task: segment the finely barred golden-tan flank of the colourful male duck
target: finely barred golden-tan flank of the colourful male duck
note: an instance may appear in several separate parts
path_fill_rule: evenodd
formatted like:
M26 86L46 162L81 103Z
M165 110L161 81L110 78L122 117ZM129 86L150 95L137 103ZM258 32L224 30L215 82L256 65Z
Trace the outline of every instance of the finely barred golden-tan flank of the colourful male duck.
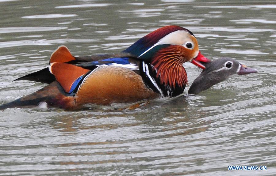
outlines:
M84 79L75 94L74 103L76 106L87 103L109 105L154 99L158 96L132 70L121 66L99 66Z

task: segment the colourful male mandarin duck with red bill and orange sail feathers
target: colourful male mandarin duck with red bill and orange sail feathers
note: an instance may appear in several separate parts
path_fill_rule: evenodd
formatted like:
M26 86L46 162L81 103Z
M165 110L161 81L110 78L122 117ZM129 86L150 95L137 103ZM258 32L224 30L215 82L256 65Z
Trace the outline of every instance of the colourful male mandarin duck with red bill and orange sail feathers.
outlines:
M0 109L46 102L75 110L86 104L174 97L182 94L187 84L185 62L204 69L201 62L210 60L200 53L192 32L174 25L149 33L117 55L74 57L67 47L60 46L52 53L49 68L17 79L49 85Z

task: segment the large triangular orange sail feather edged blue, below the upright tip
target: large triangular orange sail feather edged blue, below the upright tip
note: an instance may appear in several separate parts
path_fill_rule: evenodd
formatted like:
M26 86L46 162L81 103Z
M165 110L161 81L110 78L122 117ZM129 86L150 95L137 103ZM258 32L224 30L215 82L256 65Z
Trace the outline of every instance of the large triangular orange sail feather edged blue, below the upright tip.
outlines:
M56 81L64 91L69 93L74 81L90 70L71 64L53 62L50 64L49 71L56 77Z

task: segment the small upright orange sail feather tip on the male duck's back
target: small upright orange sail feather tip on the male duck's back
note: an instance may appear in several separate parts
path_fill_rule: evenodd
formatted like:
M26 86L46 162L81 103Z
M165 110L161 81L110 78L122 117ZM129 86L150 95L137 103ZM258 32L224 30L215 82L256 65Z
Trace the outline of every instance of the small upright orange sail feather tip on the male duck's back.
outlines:
M70 53L67 47L59 46L56 51L54 51L50 57L50 64L53 62L69 62L75 60L74 56Z

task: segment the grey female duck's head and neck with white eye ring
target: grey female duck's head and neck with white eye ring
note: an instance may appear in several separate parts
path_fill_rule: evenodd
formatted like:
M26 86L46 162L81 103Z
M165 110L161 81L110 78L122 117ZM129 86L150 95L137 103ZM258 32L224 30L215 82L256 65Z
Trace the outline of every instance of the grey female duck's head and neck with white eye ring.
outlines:
M232 58L218 58L205 63L206 68L194 80L188 91L189 94L197 95L215 84L225 81L234 75L257 73L256 69L248 68Z

